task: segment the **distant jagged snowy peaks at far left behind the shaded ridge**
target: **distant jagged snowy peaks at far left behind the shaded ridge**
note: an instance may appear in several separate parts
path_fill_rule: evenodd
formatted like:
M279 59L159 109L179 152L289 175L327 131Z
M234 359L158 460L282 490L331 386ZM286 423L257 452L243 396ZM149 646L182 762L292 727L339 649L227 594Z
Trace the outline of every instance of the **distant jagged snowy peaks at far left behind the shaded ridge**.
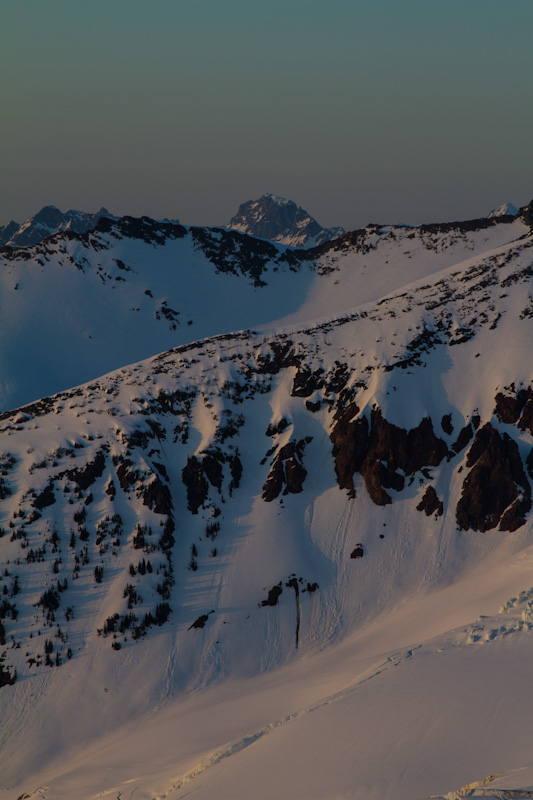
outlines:
M85 233L92 230L101 217L117 219L103 207L95 214L90 214L74 209L63 213L55 206L45 206L22 225L12 220L7 225L0 227L0 245L30 247L60 231Z

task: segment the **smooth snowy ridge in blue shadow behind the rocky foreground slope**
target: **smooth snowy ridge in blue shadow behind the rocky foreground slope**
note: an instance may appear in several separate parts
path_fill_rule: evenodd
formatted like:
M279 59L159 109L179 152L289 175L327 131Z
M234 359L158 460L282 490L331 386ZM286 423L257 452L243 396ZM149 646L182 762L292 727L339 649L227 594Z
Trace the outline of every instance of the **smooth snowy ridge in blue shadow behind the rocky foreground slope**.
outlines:
M528 230L507 217L369 226L294 251L234 231L125 217L5 248L0 409L195 339L338 315Z

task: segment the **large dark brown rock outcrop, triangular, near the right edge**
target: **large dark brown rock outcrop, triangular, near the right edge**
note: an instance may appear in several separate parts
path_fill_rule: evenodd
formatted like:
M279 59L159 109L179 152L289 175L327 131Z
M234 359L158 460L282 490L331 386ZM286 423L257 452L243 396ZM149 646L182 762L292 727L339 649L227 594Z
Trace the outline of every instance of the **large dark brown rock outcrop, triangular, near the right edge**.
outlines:
M463 530L513 531L525 523L531 487L516 443L490 423L480 428L467 456L472 467L463 483L456 518Z

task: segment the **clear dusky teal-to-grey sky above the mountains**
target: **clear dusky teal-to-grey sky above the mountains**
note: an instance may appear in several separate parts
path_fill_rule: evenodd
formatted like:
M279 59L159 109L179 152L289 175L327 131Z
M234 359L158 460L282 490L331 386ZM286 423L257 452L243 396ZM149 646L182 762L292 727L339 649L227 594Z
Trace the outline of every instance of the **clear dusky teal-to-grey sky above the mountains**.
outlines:
M533 197L531 0L18 0L0 11L0 224L42 206L322 225Z

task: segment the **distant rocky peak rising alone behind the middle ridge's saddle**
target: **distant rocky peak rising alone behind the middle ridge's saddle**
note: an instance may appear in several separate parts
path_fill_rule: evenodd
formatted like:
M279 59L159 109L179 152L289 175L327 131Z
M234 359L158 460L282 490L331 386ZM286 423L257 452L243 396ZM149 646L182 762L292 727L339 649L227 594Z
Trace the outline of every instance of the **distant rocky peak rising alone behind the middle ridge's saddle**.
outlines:
M290 247L315 247L346 233L344 228L323 228L301 206L273 194L242 203L227 228Z

